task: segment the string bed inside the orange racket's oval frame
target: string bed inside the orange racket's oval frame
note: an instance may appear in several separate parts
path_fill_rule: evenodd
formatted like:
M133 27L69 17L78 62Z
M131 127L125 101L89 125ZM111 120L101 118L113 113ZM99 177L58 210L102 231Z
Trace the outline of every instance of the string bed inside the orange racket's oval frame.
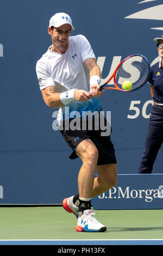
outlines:
M131 90L134 90L145 83L148 74L149 66L146 59L142 56L131 56L124 60L117 69L115 82L123 90L122 83L130 81L132 83Z

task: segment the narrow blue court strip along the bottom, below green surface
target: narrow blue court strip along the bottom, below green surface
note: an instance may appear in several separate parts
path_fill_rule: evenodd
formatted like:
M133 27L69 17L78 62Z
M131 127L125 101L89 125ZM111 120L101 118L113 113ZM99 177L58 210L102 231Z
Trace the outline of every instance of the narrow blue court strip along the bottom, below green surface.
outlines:
M0 245L163 245L163 239L117 240L0 240Z

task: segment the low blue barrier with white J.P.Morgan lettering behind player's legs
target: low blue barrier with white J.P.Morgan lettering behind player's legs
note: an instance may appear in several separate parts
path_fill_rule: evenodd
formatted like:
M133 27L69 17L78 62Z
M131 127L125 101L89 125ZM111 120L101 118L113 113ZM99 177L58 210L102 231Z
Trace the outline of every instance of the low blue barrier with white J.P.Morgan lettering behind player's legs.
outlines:
M163 209L163 174L119 174L109 191L93 198L93 209Z

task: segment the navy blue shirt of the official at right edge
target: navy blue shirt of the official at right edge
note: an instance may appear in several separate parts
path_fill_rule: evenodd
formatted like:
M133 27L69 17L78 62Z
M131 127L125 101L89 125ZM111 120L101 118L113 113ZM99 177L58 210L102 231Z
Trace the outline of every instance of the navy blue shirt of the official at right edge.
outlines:
M151 66L151 74L148 83L154 86L153 100L163 102L163 68L161 66L161 59Z

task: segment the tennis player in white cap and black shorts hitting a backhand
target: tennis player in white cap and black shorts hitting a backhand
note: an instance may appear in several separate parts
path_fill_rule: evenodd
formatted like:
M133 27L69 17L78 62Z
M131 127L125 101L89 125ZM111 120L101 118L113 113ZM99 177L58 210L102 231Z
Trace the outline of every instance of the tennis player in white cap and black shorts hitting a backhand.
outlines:
M102 110L98 97L103 94L95 54L85 36L70 36L72 30L74 27L68 14L52 16L48 27L52 45L38 60L36 73L46 104L60 108L57 120L59 127L64 127L60 129L62 136L73 150L70 159L80 157L83 162L78 175L79 194L65 198L62 205L78 217L77 231L102 232L106 227L96 220L91 199L116 185L115 150L110 135L102 136L100 127L95 129L95 120ZM65 107L69 109L68 114ZM83 118L86 113L85 120L87 113L97 113L93 118L94 128L67 129L65 124L71 120L72 111L78 113L78 118ZM94 178L96 169L98 176Z

